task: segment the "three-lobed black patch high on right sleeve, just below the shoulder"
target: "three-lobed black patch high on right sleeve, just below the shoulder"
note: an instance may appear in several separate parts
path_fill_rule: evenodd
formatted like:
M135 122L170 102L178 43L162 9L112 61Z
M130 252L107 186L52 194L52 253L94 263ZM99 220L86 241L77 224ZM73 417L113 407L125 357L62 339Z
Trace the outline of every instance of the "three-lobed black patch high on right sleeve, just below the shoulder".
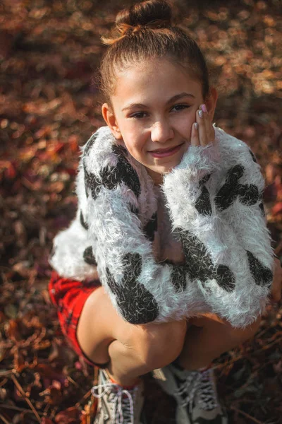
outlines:
M238 198L248 206L259 200L259 189L254 184L240 184L238 180L243 176L244 167L235 165L228 170L226 182L216 194L214 201L219 211L227 209Z

